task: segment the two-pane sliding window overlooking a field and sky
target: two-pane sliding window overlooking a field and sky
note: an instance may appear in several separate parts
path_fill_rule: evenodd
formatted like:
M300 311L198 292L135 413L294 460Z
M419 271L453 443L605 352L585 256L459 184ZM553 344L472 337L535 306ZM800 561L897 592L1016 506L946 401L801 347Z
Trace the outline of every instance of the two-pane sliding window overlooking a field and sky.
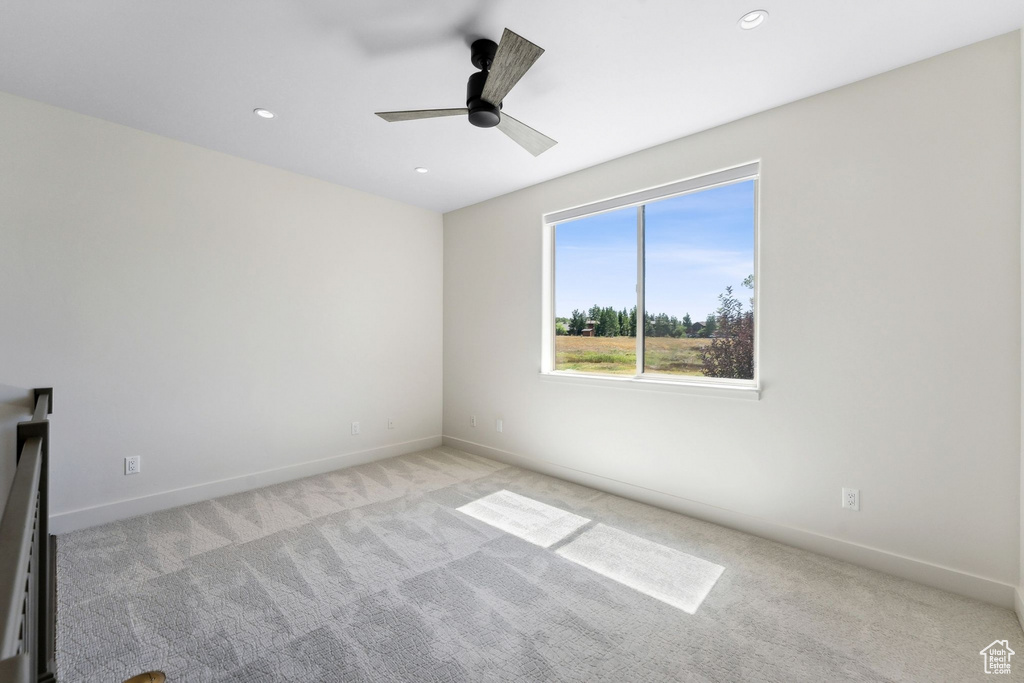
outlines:
M546 216L546 370L754 386L757 183L750 164Z

